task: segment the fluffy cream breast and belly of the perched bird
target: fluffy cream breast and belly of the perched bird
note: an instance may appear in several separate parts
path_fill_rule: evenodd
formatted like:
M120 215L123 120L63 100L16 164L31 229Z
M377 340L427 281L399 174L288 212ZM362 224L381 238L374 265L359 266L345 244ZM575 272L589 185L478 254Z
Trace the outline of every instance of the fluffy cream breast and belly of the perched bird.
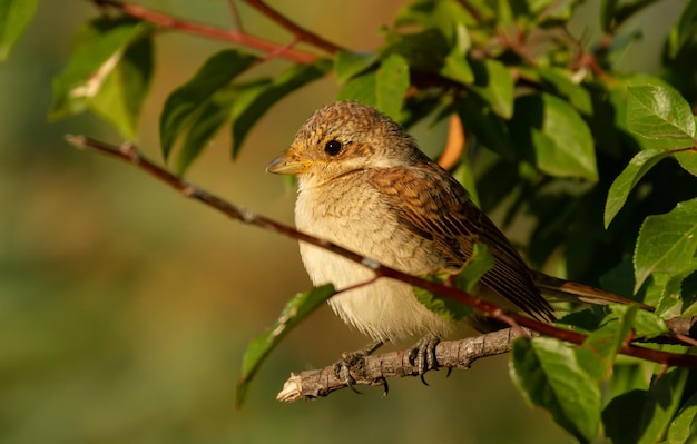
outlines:
M330 240L410 274L430 272L426 239L405 231L397 218L370 186L350 189L301 189L295 206L301 231ZM359 287L330 299L340 317L362 333L382 341L443 336L451 325L421 305L410 285L393 279L371 282L373 272L340 255L300 244L305 269L313 284L332 283L337 289ZM360 285L370 283L366 285Z

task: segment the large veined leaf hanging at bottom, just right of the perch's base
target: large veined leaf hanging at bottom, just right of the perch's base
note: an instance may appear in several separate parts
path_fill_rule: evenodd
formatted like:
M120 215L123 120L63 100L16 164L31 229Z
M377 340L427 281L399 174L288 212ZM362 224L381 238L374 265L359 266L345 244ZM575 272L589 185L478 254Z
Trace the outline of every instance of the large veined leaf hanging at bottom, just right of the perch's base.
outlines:
M511 377L526 399L549 411L582 443L598 434L601 394L568 343L520 337L511 346Z

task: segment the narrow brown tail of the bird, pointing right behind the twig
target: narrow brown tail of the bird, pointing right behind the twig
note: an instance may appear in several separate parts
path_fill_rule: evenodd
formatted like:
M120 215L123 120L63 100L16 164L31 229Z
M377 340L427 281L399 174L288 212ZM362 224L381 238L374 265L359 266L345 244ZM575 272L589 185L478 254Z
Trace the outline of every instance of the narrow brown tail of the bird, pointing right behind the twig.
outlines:
M615 293L606 292L583 284L572 283L549 276L541 272L531 270L532 280L538 286L542 295L559 302L582 302L586 304L608 305L627 304L654 312L655 308L641 302L629 299Z

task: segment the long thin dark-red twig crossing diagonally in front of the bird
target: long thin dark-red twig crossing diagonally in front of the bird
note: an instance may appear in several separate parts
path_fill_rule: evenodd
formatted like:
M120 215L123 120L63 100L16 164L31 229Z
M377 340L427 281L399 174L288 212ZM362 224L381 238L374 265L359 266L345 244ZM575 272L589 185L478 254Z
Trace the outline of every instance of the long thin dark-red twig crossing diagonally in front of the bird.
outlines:
M336 244L298 231L287 225L283 225L267 217L257 215L252 210L223 200L219 197L214 196L200 188L195 187L184 179L176 177L171 172L144 158L138 152L136 147L130 142L126 142L120 147L117 147L99 140L87 138L85 136L67 136L66 138L71 145L78 148L89 148L98 152L129 161L137 168L144 170L153 177L169 185L174 189L180 191L184 196L189 197L194 200L198 200L214 209L217 209L218 211L227 215L233 219L239 220L247 225L264 228L269 231L275 231L311 245L315 245L328 251L341 255L344 258L352 260L356 264L361 264L373 270L375 278L389 277L419 288L423 288L433 294L450 297L451 299L458 300L482 313L485 313L494 319L498 319L511 326L513 329L521 334L523 332L521 327L527 327L546 336L556 337L558 339L566 341L572 344L581 344L583 343L583 341L586 341L587 335L585 334L541 323L516 312L502 309L493 304L469 295L455 287L431 282L418 276L412 276L392 267L387 267L377 263L374 259L343 248ZM697 356L694 355L661 352L657 349L640 347L631 343L624 344L620 348L620 353L624 355L635 356L645 361L651 361L658 364L662 364L664 366L697 368Z

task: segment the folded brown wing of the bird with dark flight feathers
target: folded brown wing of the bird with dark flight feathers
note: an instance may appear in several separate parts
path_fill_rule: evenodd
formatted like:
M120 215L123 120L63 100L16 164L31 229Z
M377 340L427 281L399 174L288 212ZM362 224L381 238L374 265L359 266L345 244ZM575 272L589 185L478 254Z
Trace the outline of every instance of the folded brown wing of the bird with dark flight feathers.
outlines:
M494 265L480 284L529 315L553 322L551 306L540 295L516 248L445 170L431 162L380 168L373 170L370 180L402 226L433 241L433 254L443 258L443 267L460 268L472 254L473 244L484 244Z

